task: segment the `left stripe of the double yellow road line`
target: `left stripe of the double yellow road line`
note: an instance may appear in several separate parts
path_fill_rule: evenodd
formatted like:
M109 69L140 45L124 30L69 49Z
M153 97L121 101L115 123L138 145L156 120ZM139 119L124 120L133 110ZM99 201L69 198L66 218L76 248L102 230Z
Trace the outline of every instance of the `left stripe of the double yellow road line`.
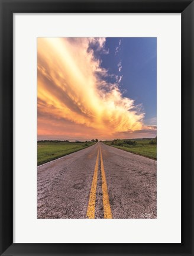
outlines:
M99 148L98 148L96 165L95 165L94 174L93 174L92 187L90 190L89 202L88 202L87 216L89 219L95 218L96 187L97 187L97 178L98 178L98 161L99 161Z

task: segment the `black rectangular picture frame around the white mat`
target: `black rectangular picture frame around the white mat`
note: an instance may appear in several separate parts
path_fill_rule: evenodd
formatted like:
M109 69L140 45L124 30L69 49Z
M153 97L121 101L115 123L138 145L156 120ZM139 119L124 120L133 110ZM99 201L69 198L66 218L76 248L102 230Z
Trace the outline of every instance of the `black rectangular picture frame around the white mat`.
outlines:
M1 0L1 255L194 255L192 0ZM181 244L13 244L13 14L62 12L181 13L182 242ZM173 32L172 32L173 33ZM179 139L179 138L178 138ZM117 231L115 231L117 232ZM168 231L166 231L168 232Z

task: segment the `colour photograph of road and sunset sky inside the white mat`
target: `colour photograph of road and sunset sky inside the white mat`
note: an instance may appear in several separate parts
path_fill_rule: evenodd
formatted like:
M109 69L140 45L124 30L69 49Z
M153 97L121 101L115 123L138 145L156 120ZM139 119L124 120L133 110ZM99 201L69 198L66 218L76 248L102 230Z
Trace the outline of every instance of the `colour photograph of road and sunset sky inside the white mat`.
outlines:
M156 219L156 60L156 37L37 38L38 219Z

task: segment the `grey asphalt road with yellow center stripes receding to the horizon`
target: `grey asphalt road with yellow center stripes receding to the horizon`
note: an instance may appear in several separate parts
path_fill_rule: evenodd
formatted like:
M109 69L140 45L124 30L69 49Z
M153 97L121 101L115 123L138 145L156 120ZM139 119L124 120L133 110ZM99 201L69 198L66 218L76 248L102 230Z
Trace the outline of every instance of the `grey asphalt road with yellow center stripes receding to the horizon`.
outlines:
M157 217L157 162L98 142L37 169L37 217Z

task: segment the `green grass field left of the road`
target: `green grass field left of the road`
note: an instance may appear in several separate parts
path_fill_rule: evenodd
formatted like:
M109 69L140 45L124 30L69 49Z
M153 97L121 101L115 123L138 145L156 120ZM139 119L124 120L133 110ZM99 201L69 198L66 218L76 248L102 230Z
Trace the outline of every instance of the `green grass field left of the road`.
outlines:
M95 142L38 142L38 165L79 151Z

